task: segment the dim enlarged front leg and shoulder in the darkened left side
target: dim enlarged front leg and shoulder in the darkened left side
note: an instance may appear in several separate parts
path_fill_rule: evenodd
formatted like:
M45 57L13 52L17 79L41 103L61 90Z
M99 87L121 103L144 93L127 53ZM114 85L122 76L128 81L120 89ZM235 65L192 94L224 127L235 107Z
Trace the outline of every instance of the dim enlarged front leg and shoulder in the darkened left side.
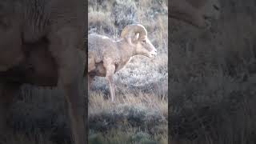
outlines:
M86 52L79 50L82 38L82 33L72 28L49 35L49 50L58 65L58 86L64 90L75 144L85 144L87 139L86 97L82 94Z

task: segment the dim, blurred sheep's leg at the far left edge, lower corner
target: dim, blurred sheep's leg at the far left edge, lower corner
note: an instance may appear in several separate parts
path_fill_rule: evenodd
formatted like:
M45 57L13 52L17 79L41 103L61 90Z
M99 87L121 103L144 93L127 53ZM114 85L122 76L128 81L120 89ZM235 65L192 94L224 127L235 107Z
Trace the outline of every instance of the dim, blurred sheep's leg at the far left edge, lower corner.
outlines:
M6 119L10 116L10 106L18 90L19 85L6 82L0 84L0 135L6 134Z

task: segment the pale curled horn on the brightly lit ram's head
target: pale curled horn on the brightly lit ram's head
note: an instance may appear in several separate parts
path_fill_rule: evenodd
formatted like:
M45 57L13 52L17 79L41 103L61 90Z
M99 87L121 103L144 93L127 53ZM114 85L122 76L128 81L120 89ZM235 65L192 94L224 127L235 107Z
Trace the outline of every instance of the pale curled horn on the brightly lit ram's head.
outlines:
M140 24L132 24L126 26L121 33L121 38L130 38L135 36L136 34L139 34L138 39L146 38L147 31L144 26Z

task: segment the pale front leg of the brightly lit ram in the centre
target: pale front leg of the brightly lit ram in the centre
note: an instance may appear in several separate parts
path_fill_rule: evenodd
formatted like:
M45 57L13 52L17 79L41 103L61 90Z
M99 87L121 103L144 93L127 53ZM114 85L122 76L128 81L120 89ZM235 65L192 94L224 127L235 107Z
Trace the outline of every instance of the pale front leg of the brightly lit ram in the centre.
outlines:
M110 85L110 96L111 96L111 101L114 102L115 94L114 94L114 65L106 65L106 80L109 82Z

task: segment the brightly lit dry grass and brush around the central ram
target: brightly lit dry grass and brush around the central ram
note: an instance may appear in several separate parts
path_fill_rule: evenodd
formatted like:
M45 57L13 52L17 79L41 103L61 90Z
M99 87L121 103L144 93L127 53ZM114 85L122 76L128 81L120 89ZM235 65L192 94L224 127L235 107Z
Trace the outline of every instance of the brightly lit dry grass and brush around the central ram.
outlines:
M94 79L89 91L90 143L167 143L168 23L165 3L156 0L89 3L89 33L118 38L124 26L141 23L159 51L154 59L135 56L114 75L114 103L110 102L105 78Z

